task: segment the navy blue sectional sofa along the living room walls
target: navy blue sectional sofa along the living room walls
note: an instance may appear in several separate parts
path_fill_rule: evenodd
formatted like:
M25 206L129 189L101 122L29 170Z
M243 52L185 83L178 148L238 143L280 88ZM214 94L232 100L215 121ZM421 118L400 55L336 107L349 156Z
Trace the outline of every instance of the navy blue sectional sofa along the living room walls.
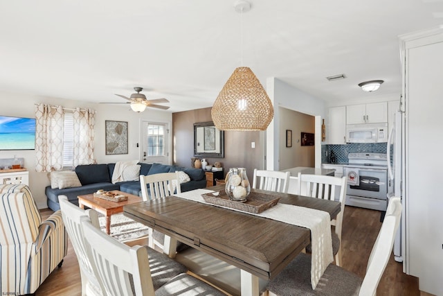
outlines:
M181 183L181 191L206 187L205 172L201 168L184 168L182 166L170 166L165 164L143 164L140 168L140 175L153 175L158 173L174 173L183 171L190 177L190 182ZM90 194L103 189L105 191L120 190L129 194L141 196L141 185L139 181L111 182L112 173L116 164L87 164L75 168L75 173L82 186L64 189L52 189L46 186L45 193L48 198L47 204L50 209L57 211L60 209L58 195L66 195L68 200L78 205L78 195Z

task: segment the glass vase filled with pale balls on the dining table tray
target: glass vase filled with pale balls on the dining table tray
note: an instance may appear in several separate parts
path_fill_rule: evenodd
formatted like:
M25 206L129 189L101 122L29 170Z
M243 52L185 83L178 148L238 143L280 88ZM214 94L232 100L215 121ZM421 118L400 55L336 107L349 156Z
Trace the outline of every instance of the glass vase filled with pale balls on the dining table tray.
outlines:
M226 177L225 191L230 200L245 202L251 185L249 184L246 168L230 168Z

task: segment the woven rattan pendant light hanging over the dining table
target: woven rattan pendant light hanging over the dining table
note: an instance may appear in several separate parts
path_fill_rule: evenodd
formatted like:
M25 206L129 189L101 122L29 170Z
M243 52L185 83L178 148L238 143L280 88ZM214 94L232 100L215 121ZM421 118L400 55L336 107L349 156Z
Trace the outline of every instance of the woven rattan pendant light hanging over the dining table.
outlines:
M251 9L251 3L239 0L234 3L234 8L241 13L243 20L243 12ZM243 24L240 31L243 32ZM241 60L243 63L243 58ZM273 115L268 94L248 67L234 70L211 110L214 124L219 130L266 130Z

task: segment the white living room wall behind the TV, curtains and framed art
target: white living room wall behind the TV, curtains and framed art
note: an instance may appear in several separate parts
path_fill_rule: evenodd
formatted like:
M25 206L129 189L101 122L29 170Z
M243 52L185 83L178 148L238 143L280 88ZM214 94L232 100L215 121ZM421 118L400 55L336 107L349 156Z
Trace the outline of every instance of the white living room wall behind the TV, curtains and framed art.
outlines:
M111 96L111 94L110 94ZM141 119L165 122L171 125L172 113L149 108L138 114L129 110L129 105L109 105L86 103L83 101L70 101L62 98L48 98L26 94L11 94L0 92L0 115L35 117L35 104L46 103L51 105L62 105L63 107L91 108L96 110L95 125L95 150L94 155L99 164L117 162L118 160L140 159L140 148L136 143L140 142L140 122ZM127 155L106 155L105 152L105 121L127 121L128 122L128 154ZM172 148L172 145L170 145ZM35 172L35 150L0 150L0 158L12 158L14 155L24 158L24 166L29 171L29 186L33 192L33 197L39 209L46 208L46 195L44 188L49 185L47 173ZM172 155L172 150L170 151Z

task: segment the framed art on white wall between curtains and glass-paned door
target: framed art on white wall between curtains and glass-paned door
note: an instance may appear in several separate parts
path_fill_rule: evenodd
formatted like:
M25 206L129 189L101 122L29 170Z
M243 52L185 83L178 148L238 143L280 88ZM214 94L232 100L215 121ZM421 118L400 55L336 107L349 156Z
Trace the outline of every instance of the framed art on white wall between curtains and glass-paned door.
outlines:
M106 154L128 154L127 121L105 121Z

